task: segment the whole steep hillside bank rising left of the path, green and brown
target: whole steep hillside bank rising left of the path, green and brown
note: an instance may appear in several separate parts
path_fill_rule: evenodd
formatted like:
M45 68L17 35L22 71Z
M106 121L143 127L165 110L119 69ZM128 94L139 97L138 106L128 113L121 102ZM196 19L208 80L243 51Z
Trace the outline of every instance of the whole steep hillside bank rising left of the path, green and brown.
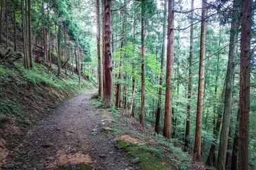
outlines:
M6 51L0 52L1 162L7 156L7 150L18 146L20 138L30 127L80 91L75 73L67 71L67 75L63 73L57 77L55 65L53 71L48 71L44 65L37 63L34 63L33 69L24 69L19 53L10 51L7 57ZM94 83L82 79L82 91L94 88Z

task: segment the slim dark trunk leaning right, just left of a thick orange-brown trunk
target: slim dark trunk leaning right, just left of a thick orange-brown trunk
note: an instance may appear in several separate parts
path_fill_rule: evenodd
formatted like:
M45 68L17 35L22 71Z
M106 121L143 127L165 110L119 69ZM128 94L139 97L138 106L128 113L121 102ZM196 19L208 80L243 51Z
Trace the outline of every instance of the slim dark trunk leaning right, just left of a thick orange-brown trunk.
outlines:
M162 54L161 54L161 73L160 73L160 82L158 89L158 105L156 110L156 126L155 132L160 133L160 118L161 118L161 108L162 108L162 78L164 75L164 53L165 53L165 38L166 38L166 16L167 16L167 0L164 0L164 19L163 19L163 28L162 28Z

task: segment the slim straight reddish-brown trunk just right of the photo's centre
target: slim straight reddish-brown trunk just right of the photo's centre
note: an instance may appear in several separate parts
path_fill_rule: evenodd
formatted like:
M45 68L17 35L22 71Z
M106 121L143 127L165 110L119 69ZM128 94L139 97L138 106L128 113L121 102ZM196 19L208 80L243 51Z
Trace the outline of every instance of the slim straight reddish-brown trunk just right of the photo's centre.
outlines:
M145 124L145 0L141 0L141 110L139 123Z

